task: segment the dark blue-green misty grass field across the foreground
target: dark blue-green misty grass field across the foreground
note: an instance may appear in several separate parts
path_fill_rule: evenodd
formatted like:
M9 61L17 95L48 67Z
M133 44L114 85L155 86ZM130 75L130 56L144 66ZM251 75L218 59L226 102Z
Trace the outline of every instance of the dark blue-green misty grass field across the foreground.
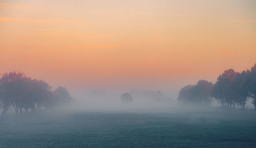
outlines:
M256 112L35 113L0 131L1 147L255 147Z

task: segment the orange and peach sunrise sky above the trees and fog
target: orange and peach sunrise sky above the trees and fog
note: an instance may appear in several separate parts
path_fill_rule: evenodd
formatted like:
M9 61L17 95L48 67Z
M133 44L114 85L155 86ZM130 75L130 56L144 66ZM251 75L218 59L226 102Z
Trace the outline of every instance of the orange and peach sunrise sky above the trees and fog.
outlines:
M255 55L253 0L0 0L0 73L71 91L179 90Z

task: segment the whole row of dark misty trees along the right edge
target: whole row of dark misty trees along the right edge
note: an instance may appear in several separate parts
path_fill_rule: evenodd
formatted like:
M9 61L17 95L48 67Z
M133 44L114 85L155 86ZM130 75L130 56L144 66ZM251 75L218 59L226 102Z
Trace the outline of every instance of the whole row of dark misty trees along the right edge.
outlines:
M239 105L244 109L249 98L256 110L256 64L241 73L225 70L216 83L199 80L196 85L187 85L181 88L178 101L209 105L217 100L222 107L235 108Z

